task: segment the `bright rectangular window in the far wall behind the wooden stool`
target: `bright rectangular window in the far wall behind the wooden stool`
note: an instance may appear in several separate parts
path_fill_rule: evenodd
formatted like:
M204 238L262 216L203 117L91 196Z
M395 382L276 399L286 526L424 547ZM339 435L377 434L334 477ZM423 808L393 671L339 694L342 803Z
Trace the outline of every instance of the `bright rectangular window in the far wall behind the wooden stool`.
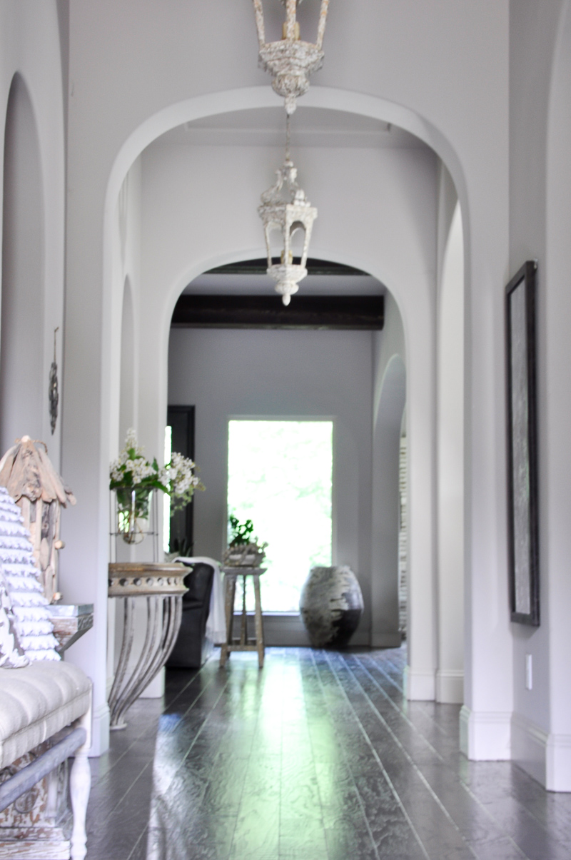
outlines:
M267 541L265 612L297 612L310 568L331 564L332 463L333 421L229 422L228 512Z

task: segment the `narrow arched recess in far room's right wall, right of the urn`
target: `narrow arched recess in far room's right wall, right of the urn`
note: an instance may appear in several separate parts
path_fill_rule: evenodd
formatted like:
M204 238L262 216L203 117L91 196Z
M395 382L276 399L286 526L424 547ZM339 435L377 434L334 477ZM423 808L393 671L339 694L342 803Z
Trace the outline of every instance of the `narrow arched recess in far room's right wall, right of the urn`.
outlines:
M397 312L396 304L394 299L389 303L385 297L385 319L391 312ZM389 352L392 346L389 345ZM386 345L382 344L381 349L385 351ZM383 358L379 356L377 366L384 364ZM379 395L373 404L371 645L376 648L395 647L401 643L398 629L399 451L406 395L405 363L398 353L393 353L384 366Z

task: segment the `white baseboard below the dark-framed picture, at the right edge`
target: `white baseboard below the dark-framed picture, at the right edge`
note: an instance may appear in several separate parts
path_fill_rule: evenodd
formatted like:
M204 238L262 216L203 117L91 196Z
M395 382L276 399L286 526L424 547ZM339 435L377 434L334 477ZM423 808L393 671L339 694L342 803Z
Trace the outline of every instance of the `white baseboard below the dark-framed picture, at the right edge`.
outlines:
M527 717L513 714L512 758L548 791L571 791L570 734L549 734Z

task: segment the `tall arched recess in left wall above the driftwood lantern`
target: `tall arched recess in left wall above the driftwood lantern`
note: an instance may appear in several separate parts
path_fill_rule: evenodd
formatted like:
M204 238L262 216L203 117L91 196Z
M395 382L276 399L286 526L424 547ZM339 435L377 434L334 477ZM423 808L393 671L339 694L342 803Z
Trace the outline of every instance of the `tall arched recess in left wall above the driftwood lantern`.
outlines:
M4 132L0 449L45 436L44 222L40 143L28 89L15 74Z

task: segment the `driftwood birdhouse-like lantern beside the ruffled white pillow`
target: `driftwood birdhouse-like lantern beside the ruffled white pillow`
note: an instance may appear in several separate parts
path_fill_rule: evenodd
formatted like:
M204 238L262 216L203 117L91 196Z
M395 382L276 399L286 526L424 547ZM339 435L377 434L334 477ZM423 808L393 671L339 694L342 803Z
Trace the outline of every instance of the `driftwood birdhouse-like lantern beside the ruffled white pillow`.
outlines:
M68 502L75 505L75 496L53 468L46 444L29 436L18 439L0 460L0 486L21 508L40 583L46 600L52 603L58 593L58 550L65 545L59 537L61 508Z

